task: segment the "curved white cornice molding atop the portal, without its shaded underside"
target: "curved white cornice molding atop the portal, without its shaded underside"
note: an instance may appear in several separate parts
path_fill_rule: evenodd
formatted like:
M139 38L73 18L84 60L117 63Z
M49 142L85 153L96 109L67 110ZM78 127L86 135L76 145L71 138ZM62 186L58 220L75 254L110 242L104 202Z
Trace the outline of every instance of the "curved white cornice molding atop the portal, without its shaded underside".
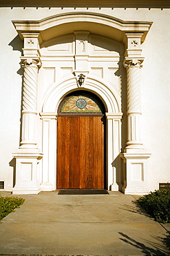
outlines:
M142 41L144 40L145 34L149 31L149 28L152 24L152 22L146 21L123 21L115 17L94 12L68 12L41 19L39 21L12 21L12 23L14 24L14 27L19 33L21 39L23 39L23 32L25 33L34 31L34 33L38 33L49 28L54 28L54 26L58 26L60 24L69 24L73 22L73 20L76 22L93 22L96 24L108 26L111 29L116 28L125 33L142 33Z

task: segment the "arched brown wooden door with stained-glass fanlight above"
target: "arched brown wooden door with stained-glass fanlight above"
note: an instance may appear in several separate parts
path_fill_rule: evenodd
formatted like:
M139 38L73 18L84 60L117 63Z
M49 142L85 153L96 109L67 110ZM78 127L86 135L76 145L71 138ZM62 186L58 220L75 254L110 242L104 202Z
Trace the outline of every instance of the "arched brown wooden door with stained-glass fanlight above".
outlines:
M59 106L56 188L105 188L105 107L96 95L76 91Z

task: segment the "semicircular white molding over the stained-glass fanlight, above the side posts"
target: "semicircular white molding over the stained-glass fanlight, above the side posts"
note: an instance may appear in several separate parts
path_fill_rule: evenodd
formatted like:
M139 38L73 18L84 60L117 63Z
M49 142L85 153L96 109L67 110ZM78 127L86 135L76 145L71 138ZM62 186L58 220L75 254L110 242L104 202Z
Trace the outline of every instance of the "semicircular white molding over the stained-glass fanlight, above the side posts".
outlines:
M43 113L57 113L59 103L67 93L78 89L76 78L67 77L67 80L63 80L59 84L55 83L45 93L43 101ZM81 87L87 91L92 91L94 94L103 100L105 108L109 113L120 113L121 104L120 96L116 89L109 89L109 87L99 80L95 80L93 77L87 77L85 86Z

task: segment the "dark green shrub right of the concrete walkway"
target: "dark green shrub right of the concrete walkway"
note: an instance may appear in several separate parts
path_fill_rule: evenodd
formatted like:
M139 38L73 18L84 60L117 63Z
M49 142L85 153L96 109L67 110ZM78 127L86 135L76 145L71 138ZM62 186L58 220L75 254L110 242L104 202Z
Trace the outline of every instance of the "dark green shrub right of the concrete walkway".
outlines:
M156 190L138 199L140 205L158 222L170 222L170 189Z

